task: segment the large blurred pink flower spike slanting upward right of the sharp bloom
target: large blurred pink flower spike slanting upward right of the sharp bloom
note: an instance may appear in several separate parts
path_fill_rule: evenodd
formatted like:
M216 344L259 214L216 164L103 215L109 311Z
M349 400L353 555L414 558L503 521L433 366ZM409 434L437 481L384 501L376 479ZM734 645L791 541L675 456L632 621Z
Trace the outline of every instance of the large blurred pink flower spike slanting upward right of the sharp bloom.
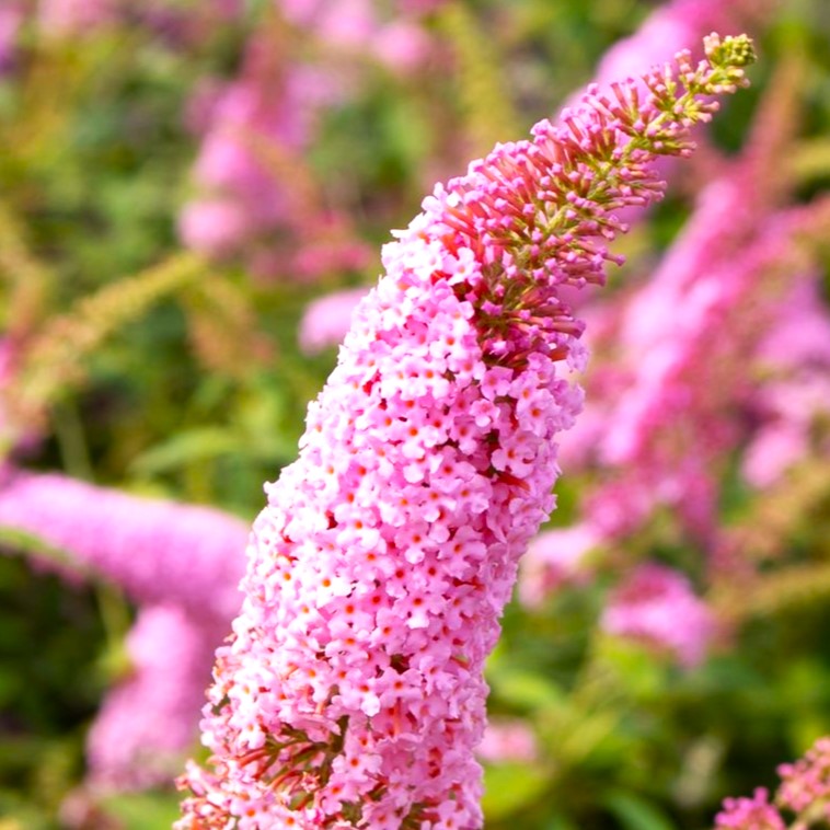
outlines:
M593 462L608 473L584 519L601 537L631 534L669 505L687 532L712 542L723 460L760 419L746 416L758 385L747 367L785 313L782 288L799 279L800 261L812 267L809 237L822 233L805 233L822 222L820 200L780 208L775 160L792 141L797 100L793 72L779 72L746 149L701 191L647 283L627 302L593 309L591 345L606 359L563 453L569 469Z

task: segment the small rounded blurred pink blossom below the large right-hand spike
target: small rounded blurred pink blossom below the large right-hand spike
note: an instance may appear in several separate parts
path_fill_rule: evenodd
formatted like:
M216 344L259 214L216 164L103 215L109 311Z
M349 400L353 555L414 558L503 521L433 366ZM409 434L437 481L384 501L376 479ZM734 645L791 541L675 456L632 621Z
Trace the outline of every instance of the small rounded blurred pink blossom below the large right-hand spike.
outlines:
M612 591L600 626L668 652L685 667L703 660L716 627L713 612L694 595L689 579L654 563L635 568Z

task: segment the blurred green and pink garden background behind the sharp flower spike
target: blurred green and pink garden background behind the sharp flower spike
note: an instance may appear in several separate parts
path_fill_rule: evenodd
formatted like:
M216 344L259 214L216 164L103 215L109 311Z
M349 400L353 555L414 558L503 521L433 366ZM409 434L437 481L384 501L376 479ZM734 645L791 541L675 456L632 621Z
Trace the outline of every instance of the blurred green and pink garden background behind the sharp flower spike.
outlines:
M487 828L699 830L830 733L827 0L0 0L0 829L154 830L391 228L591 80L752 88L588 323Z

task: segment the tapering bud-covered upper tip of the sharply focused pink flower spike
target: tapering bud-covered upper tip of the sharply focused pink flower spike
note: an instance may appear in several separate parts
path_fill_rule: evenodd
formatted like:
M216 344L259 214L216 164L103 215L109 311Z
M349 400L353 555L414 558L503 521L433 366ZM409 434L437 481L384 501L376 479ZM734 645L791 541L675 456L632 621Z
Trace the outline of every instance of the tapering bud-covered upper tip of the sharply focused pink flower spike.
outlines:
M713 62L698 67L679 53L676 74L667 66L642 78L647 95L634 82L612 83L608 94L591 85L562 125L541 122L532 141L499 146L426 200L427 221L454 231L483 266L466 298L493 357L537 348L555 356L579 334L557 291L604 281L606 263L619 262L608 242L625 230L614 211L661 195L649 164L691 153L689 128L718 106L707 96L743 83L747 43L707 38Z

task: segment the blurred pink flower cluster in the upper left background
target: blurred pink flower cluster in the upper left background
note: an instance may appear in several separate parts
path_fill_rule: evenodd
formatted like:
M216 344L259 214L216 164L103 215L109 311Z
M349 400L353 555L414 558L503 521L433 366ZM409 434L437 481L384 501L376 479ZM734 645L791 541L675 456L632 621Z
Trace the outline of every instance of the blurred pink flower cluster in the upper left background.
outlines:
M198 97L197 194L180 233L208 256L244 255L258 275L313 279L361 268L367 252L346 217L323 207L301 160L321 108L338 95L337 78L288 60L287 38L279 24L263 26L240 76Z

